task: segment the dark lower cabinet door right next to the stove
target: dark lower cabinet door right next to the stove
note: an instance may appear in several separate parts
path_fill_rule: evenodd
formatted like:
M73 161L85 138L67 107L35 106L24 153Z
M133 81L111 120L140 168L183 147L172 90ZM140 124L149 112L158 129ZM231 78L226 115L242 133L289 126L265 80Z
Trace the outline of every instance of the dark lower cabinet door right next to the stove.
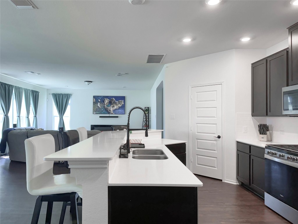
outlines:
M265 189L265 159L250 156L250 187L264 197Z

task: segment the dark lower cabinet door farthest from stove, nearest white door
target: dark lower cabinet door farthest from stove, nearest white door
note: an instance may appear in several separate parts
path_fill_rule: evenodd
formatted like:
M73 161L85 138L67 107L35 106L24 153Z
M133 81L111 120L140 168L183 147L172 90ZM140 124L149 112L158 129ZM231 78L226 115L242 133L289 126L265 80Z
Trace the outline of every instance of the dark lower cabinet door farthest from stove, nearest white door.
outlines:
M249 185L249 154L237 151L237 179Z

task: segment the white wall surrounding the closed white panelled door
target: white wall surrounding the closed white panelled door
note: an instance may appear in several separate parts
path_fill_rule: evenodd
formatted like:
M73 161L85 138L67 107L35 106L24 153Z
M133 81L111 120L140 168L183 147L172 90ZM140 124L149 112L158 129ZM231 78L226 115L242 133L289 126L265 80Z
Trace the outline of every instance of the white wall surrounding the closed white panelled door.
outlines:
M165 69L165 129L167 139L189 141L189 88L224 82L226 176L236 182L235 167L235 50L209 54L168 64ZM175 119L170 119L175 114ZM189 167L189 142L187 142Z

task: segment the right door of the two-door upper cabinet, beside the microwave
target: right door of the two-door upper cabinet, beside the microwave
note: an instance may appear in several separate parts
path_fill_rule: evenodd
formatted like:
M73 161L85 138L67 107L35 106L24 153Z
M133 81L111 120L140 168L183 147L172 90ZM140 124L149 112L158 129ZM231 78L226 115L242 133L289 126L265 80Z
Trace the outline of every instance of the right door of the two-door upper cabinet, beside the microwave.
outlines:
M287 86L288 50L267 58L267 115L282 116L282 88Z

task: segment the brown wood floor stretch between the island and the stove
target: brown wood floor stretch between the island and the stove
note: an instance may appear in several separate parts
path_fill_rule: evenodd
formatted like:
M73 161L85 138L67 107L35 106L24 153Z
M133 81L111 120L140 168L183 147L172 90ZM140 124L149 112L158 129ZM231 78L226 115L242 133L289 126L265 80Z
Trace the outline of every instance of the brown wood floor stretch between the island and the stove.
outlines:
M240 185L198 176L199 223L201 224L289 224L264 205L264 201Z

